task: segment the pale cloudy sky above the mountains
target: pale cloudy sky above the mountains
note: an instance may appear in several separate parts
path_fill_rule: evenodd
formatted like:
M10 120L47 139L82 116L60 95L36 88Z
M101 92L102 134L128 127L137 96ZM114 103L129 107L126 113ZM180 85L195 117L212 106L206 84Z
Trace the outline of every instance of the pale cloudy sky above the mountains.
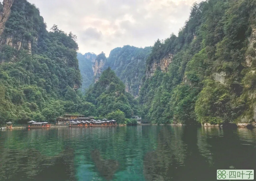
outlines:
M48 30L57 24L76 34L79 52L108 56L115 47L152 46L157 38L177 35L196 0L28 1L40 9Z

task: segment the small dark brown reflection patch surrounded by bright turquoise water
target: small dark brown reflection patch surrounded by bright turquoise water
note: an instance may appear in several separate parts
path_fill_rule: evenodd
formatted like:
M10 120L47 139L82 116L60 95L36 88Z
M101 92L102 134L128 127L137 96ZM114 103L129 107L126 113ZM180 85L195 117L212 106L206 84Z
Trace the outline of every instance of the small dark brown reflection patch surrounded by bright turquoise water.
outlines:
M99 150L91 151L91 157L100 175L106 180L112 180L115 172L118 169L118 161L103 159Z

